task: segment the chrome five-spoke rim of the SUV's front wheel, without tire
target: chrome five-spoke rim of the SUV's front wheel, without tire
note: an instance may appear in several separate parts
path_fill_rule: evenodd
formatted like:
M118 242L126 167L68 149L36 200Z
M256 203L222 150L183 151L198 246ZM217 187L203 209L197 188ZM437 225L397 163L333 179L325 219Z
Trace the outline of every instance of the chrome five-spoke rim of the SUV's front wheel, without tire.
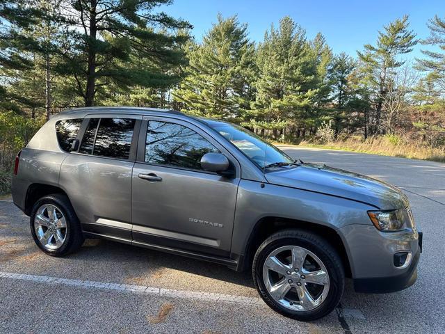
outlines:
M313 310L325 301L329 275L321 260L300 246L282 246L268 255L263 266L270 296L289 310Z

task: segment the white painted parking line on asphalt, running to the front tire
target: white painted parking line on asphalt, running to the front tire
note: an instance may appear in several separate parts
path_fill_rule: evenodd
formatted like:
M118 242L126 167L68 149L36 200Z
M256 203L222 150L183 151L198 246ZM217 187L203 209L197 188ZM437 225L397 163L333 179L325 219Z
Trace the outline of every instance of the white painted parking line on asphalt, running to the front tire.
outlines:
M266 305L262 299L256 297L233 296L231 294L214 294L211 292L195 292L174 289L163 289L159 287L145 287L144 285L129 285L119 283L96 282L93 280L72 280L68 278L57 278L51 276L26 275L23 273L7 273L0 271L0 278L10 278L13 280L30 280L37 283L51 283L72 285L83 288L96 288L114 290L119 292L131 292L137 294L154 294L158 296L184 298L206 301L222 301L228 303L241 303L248 305Z

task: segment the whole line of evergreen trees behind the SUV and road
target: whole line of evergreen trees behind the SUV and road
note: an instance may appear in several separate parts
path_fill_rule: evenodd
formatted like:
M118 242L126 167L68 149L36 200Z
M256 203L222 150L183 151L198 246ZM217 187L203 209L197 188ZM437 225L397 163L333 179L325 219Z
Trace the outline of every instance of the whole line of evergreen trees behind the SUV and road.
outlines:
M420 39L400 17L348 55L291 17L253 42L236 16L218 15L197 41L186 20L156 9L169 3L1 0L0 112L44 120L75 106L151 106L277 141L394 135L445 145L444 18L426 22ZM418 43L422 57L406 61Z

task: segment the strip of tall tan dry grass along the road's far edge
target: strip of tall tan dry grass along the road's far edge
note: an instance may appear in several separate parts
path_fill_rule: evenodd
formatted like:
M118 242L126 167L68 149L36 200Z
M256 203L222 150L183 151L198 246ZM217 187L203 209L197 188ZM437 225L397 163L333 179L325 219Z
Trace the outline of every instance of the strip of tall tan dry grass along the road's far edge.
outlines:
M302 141L300 146L445 162L445 148L430 148L415 143L394 144L386 137L369 138L366 140L352 137L346 139L346 141L334 141L325 144Z

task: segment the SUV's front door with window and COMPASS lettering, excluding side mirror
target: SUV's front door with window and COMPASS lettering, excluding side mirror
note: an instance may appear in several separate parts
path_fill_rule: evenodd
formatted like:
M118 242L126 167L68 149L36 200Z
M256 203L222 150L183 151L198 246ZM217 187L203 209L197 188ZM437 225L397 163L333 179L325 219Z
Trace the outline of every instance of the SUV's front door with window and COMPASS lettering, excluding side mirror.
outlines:
M189 122L143 120L132 174L133 240L228 257L240 177L237 161ZM207 152L223 152L236 170L201 169Z

